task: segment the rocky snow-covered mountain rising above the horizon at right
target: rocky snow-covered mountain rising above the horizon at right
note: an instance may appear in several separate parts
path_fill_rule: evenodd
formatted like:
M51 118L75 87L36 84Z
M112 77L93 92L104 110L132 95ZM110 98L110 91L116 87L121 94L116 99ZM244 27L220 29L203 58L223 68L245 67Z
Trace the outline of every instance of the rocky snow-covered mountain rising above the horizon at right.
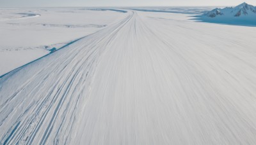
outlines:
M239 4L236 7L216 8L205 13L207 17L256 17L256 7L247 3Z

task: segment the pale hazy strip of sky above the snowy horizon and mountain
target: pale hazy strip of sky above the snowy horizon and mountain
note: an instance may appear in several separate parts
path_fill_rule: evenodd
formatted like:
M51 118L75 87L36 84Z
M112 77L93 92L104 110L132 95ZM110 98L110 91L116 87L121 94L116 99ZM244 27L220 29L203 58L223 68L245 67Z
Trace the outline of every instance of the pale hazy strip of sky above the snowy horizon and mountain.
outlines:
M256 0L0 0L0 7L31 6L236 6Z

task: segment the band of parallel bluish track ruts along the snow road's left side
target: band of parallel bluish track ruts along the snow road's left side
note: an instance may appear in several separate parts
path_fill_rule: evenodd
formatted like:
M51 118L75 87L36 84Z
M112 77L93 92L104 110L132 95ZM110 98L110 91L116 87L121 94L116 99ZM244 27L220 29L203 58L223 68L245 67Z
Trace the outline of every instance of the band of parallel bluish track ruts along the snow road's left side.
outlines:
M34 141L36 134L40 132L38 130L44 129L45 130L44 135L42 136L42 140L40 144L45 144L45 141L47 141L49 134L51 134L52 127L54 126L55 120L57 116L59 116L61 107L64 107L63 103L65 102L67 104L67 106L65 106L65 110L66 110L65 111L66 113L64 112L65 114L67 114L68 109L76 109L77 102L79 102L78 101L79 97L81 97L80 93L78 95L75 106L71 106L70 108L68 107L70 106L70 101L72 101L70 99L72 99L72 97L76 97L74 96L74 94L76 94L74 93L74 91L78 88L77 86L79 87L80 85L84 86L83 84L85 83L87 83L87 85L90 84L90 79L88 79L88 76L93 75L93 69L95 69L95 66L97 65L97 59L99 59L100 57L100 52L104 50L104 47L107 46L109 42L111 42L111 39L115 36L116 32L118 32L131 18L132 18L132 13L128 17L124 18L124 20L122 20L118 24L109 26L109 28L106 30L96 32L95 34L88 36L88 38L84 38L85 41L86 40L89 41L87 43L88 46L84 46L86 44L81 43L81 46L77 46L77 48L70 48L70 49L74 49L73 52L72 50L69 50L69 52L71 52L70 56L69 55L56 56L54 58L56 60L54 59L51 60L52 64L51 62L48 62L47 65L45 65L44 67L42 67L41 70L36 72L36 74L34 74L33 77L29 78L28 81L24 83L24 85L22 86L19 85L17 92L13 93L10 97L7 97L8 99L6 99L5 103L2 104L1 106L2 111L6 111L6 106L10 106L10 104L12 104L13 101L17 101L15 100L15 97L17 96L22 97L22 95L20 95L20 92L24 92L24 89L29 89L29 87L31 88L31 82L36 82L36 80L41 78L40 76L43 76L46 73L46 76L44 76L44 78L42 79L42 82L37 83L35 88L32 87L31 90L28 92L28 95L26 96L26 97L29 97L35 94L38 94L41 96L38 98L39 99L38 101L33 102L32 104L32 106L34 106L35 109L32 109L31 110L32 112L29 111L31 114L25 113L26 116L24 116L24 114L20 115L19 120L17 120L19 121L19 123L18 124L15 123L17 124L15 125L15 128L9 129L11 130L11 132L9 133L10 135L7 137L6 135L8 134L6 134L4 135L5 137L2 138L3 143L6 144L10 142L16 142L20 144L22 142L23 143L30 142L29 144L31 144ZM79 60L80 58L81 60ZM64 62L60 62L60 60L64 60ZM38 61L39 62L37 63L40 63L40 60ZM74 62L76 62L76 64L74 64ZM60 64L60 65L57 66L56 64ZM33 64L29 64L29 66L33 66ZM26 67L29 67L29 66L24 66L24 68L26 69ZM47 70L51 70L52 68L54 68L53 70L54 72L49 73ZM69 72L69 74L66 75L68 70L70 70L71 72ZM58 72L55 72L55 71L58 71ZM17 72L13 72L13 73L15 74ZM56 74L59 74L59 77L56 77ZM6 75L6 78L7 76L8 74ZM12 76L12 72L11 74L9 74L9 76ZM2 79L6 79L6 78L3 77ZM49 81L49 78L56 78L56 83L54 83L55 85L49 86L49 87L44 85L45 83L47 83L46 81ZM92 77L89 77L89 78L92 78ZM63 79L65 79L65 81L63 81ZM77 83L76 85L74 85L75 80ZM40 92L40 90L38 89L40 85L42 87L45 87L44 90L47 91L48 95L45 95L44 92ZM56 90L56 88L58 88L58 90ZM71 88L73 88L72 93L70 93ZM83 88L83 89L86 89L86 88ZM81 90L81 89L80 91L84 92L84 90ZM68 100L66 100L67 97L69 98ZM21 105L24 105L24 104L21 103L20 106ZM31 106L28 106L28 107L30 108ZM51 115L49 115L49 111L52 111L52 110L54 110L54 112ZM8 118L9 114L12 114L13 111L14 111L13 109L9 111L6 118ZM68 111L72 111L72 110L68 110ZM3 114L3 112L1 112L1 114ZM65 114L61 113L61 115L65 115ZM49 117L51 117L50 120L48 120ZM72 113L72 117L74 118L73 113ZM6 118L4 118L2 122L6 121ZM45 118L47 118L47 121L45 121ZM21 120L26 122L22 123L23 121ZM66 120L65 120L65 117L63 118L63 121L68 122L69 120L71 121L72 118L68 118ZM63 124L63 121L61 122L61 125ZM42 125L44 123L48 124L48 127L42 128ZM71 129L72 127L69 127L69 128ZM70 130L69 131L66 130L65 132L70 132ZM58 129L58 134L60 134L60 128ZM56 139L55 137L54 141L56 140L58 139Z

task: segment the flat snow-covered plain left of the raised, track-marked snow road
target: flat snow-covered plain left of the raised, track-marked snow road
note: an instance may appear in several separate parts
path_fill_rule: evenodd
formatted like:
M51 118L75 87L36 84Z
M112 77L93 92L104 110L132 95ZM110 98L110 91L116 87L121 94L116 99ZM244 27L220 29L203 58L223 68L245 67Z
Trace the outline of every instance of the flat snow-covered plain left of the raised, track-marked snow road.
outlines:
M104 17L102 17L104 15ZM0 76L122 17L84 8L0 9Z

